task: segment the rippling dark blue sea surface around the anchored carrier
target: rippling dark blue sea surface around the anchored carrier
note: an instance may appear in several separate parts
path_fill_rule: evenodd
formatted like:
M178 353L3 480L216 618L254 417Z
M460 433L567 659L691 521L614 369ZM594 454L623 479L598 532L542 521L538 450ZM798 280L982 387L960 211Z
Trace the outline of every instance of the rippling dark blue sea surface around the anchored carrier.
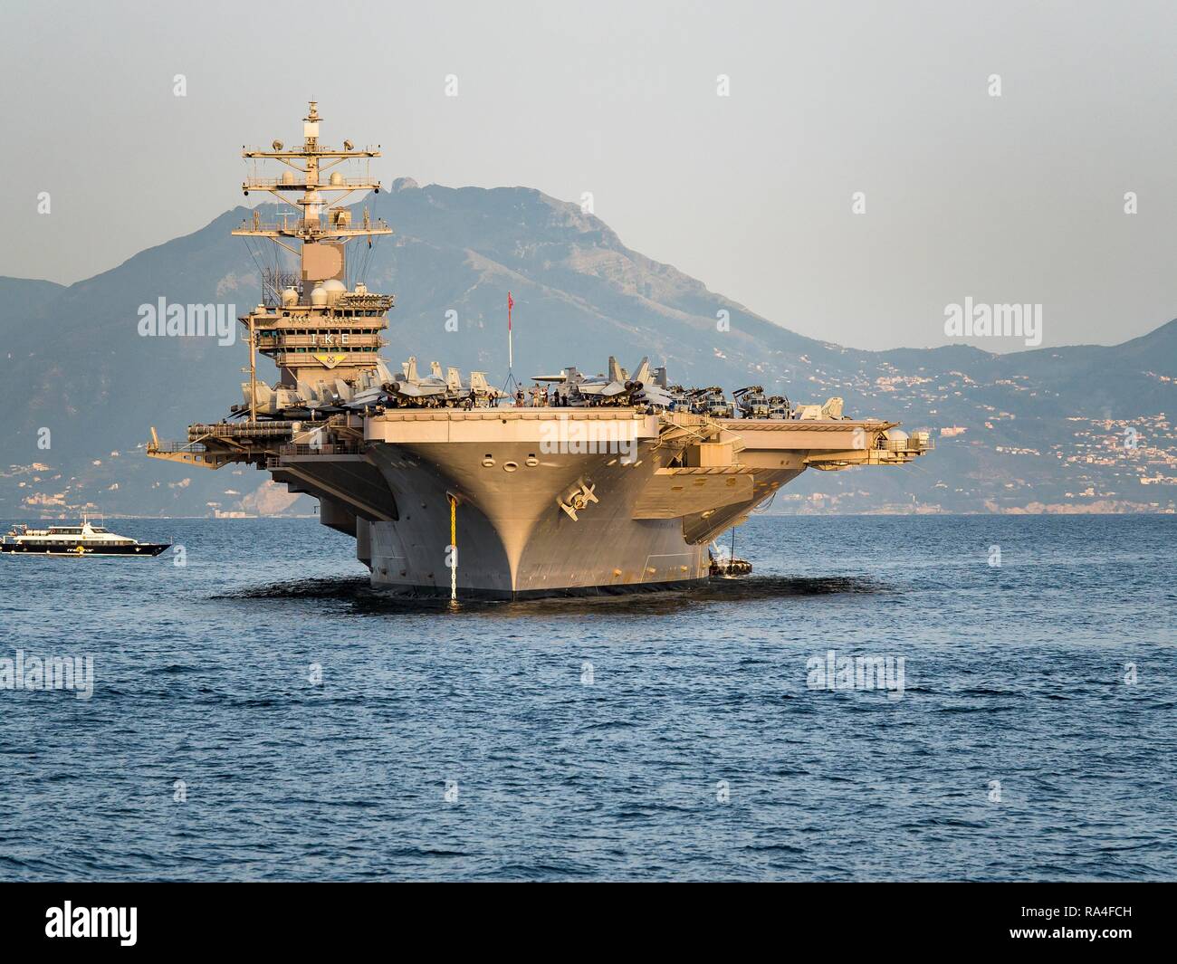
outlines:
M0 557L0 659L94 667L0 689L2 879L1177 877L1177 517L758 517L744 580L457 612L109 525L187 565Z

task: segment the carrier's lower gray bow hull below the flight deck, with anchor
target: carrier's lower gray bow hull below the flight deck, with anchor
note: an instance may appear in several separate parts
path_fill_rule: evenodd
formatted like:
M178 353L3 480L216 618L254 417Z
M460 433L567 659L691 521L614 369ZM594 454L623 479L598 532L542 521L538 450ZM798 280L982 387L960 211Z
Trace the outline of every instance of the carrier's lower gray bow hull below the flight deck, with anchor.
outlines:
M478 443L373 450L399 508L395 521L368 523L373 586L448 596L448 493L463 493L454 510L459 597L625 592L707 578L706 547L685 540L680 519L632 518L653 468L650 460L625 465L616 454L496 447L488 468ZM527 465L528 456L536 465ZM511 464L518 468L504 471ZM580 480L593 486L599 501L573 519L559 497Z

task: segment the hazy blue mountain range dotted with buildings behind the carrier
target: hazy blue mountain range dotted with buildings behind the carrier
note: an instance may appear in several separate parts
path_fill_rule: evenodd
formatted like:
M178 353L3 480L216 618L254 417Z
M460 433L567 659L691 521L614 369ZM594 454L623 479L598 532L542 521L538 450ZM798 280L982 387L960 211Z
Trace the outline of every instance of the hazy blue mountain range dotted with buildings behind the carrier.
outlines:
M773 511L1177 505L1177 437L1165 414L1175 408L1177 321L1110 347L864 352L762 318L538 191L421 188L403 178L370 207L397 232L359 252L368 286L397 294L384 352L393 367L414 354L501 381L510 290L519 375L567 365L598 372L610 354L626 366L650 355L683 384L760 384L805 403L837 394L849 414L936 437L932 454L903 468L805 473ZM261 487L254 470L185 471L142 456L151 426L184 439L189 421L217 420L240 400L240 343L145 338L138 325L139 306L160 298L245 313L260 293L261 261L228 232L248 214L226 212L67 287L0 278L0 517L87 504L112 516L313 511L305 497L291 504ZM457 332L446 330L448 312ZM720 330L723 313L730 330Z

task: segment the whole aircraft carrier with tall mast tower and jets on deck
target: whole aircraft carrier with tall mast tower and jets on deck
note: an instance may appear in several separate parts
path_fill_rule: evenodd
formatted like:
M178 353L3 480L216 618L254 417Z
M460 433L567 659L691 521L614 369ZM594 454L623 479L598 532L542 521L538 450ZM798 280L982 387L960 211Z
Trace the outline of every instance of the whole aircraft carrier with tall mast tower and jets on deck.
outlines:
M358 247L363 267L365 245L392 230L343 204L379 192L366 168L380 152L325 146L320 122L311 102L301 142L242 152L255 172L245 193L291 208L233 232L274 255L240 319L244 401L191 425L186 443L152 428L147 454L254 465L314 497L374 587L451 599L687 587L746 571L714 540L806 468L902 465L931 447L925 432L845 417L838 398L793 405L747 386L729 400L672 385L646 359L627 371L611 358L597 377L570 366L528 388L437 363L423 374L413 357L393 372L380 357L393 297L367 291L347 257ZM265 164L281 173L262 177ZM258 378L259 353L275 383Z

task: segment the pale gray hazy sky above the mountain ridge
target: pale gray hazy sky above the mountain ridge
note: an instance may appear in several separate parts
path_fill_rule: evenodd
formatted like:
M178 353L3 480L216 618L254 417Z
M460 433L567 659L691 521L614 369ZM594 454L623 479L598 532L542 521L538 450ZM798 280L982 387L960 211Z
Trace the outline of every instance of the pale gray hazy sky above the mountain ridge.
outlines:
M944 344L966 297L1042 304L1044 345L1177 315L1171 0L5 0L0 36L0 274L201 227L317 98L385 182L592 192L630 247L816 338Z

